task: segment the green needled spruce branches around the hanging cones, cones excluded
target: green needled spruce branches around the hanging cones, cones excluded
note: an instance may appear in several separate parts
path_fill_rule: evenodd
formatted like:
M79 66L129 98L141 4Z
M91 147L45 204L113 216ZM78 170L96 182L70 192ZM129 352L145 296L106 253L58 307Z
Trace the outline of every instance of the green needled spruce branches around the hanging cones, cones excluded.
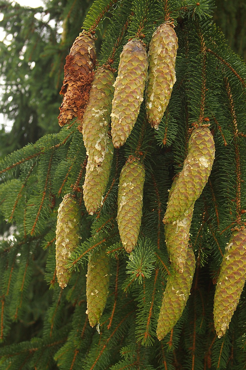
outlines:
M68 1L64 7L63 30L73 28L69 35L75 39L79 29L71 17L78 4L73 4ZM114 149L106 190L94 214L88 215L83 201L89 159L78 129L82 122L76 118L1 160L0 213L13 226L11 236L0 241L0 369L245 368L245 290L221 339L213 327L215 285L226 243L235 230L246 227L246 66L213 24L213 10L211 0L96 0L88 10L84 29L103 35L101 48L96 42L96 66L105 65L115 77L129 39L140 40L148 50L156 27L173 22L177 81L158 131L147 121L145 99L141 103L129 138ZM54 65L61 54L55 55ZM52 73L46 75L44 84L51 78ZM183 168L192 130L202 125L213 135L215 160L194 204L189 247L195 254L195 274L180 319L158 341L163 294L167 283L172 290L169 282L178 274L170 263L162 221L168 190ZM119 177L126 161L140 161L145 169L141 227L129 254L117 225ZM69 253L65 268L71 279L61 289L55 232L66 194L79 206L81 239ZM86 314L86 266L102 251L111 258L109 293L100 323L92 328Z

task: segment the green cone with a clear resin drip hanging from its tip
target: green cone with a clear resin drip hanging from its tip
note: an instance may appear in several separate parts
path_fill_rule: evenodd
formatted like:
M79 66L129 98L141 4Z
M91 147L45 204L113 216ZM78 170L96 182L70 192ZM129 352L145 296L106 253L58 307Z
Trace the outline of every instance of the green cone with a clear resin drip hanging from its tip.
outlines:
M87 311L90 326L99 323L106 305L110 277L110 257L106 248L99 250L96 255L89 258L86 297Z

